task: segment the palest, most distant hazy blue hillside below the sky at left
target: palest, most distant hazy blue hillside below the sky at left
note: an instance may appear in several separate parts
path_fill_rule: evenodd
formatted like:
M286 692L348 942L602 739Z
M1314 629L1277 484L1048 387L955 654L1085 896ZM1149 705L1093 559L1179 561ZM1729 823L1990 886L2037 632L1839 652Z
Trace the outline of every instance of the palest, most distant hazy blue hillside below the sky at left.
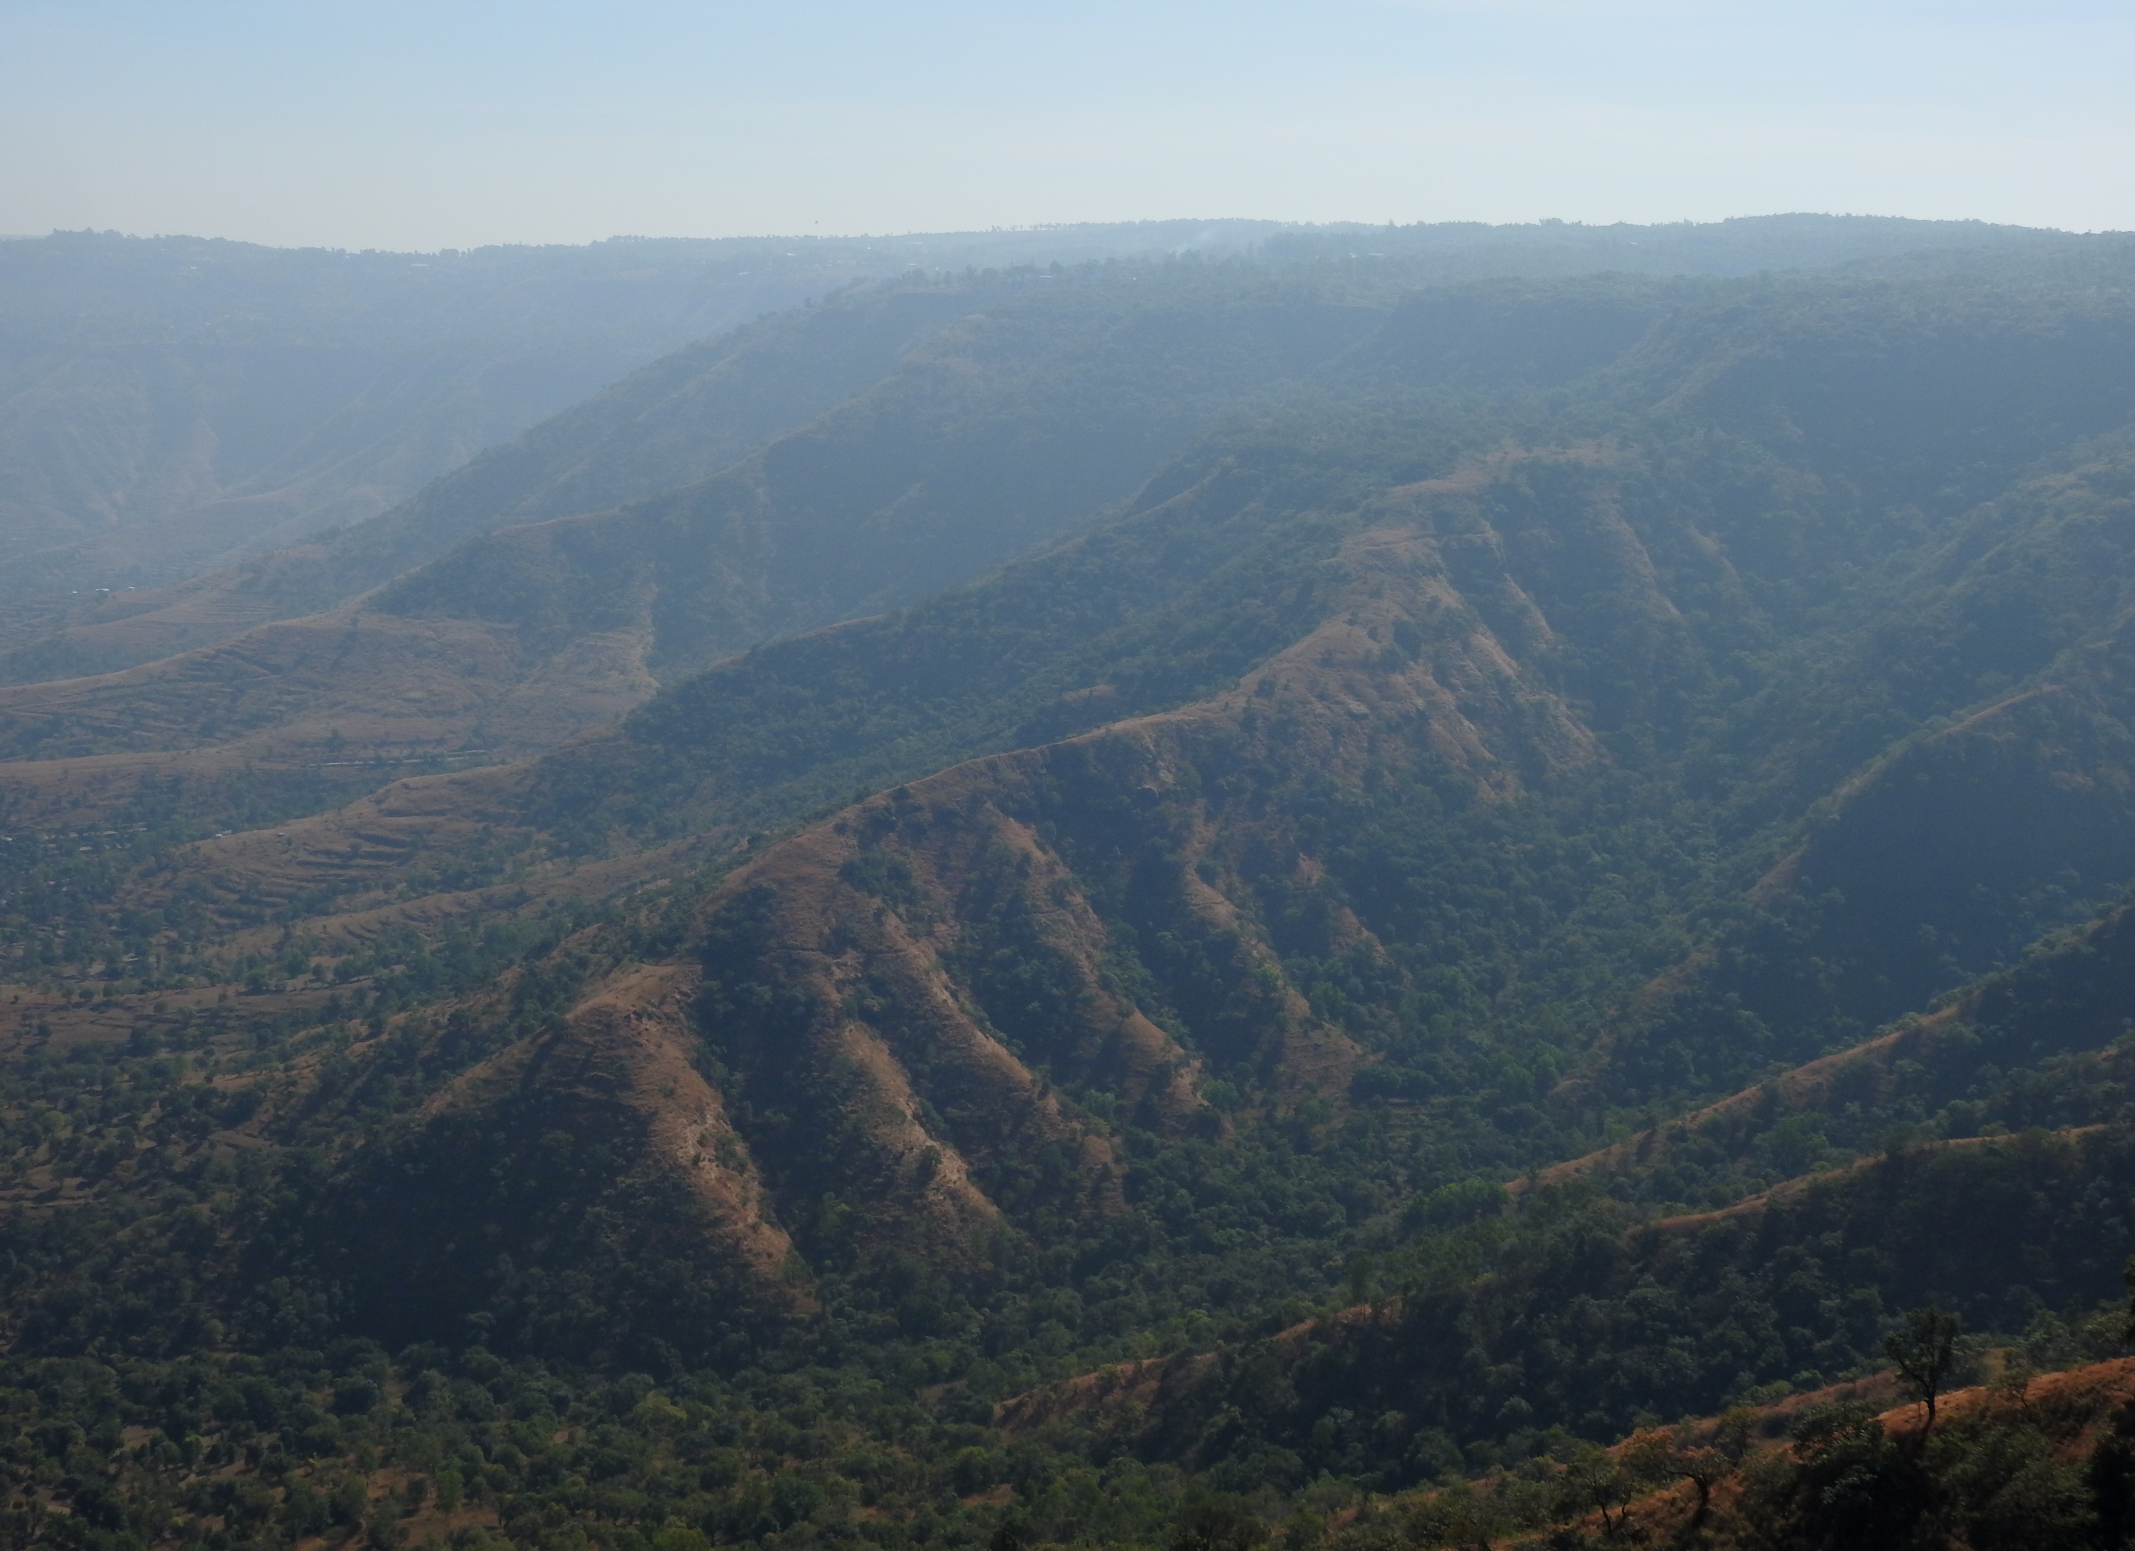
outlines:
M1149 222L438 254L117 233L6 241L4 593L19 610L38 593L149 589L361 523L632 367L856 279L1187 241L1236 250L1264 230Z

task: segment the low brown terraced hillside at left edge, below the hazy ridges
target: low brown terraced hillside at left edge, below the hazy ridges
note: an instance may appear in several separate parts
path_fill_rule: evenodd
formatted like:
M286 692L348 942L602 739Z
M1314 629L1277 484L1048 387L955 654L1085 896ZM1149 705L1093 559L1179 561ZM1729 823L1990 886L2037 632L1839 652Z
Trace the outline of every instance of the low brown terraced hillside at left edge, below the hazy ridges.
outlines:
M643 631L529 649L510 625L359 608L260 625L141 668L0 689L13 824L120 806L147 781L211 792L248 770L363 789L408 759L555 747L653 691Z

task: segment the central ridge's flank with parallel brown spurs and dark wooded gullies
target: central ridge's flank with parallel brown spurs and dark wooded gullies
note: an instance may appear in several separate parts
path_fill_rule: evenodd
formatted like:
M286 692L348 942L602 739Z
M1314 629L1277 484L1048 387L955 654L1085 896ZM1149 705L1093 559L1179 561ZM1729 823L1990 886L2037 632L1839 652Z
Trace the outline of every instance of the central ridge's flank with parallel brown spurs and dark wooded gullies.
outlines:
M1450 585L1435 525L1462 531L1501 471L1371 506L1328 559L1322 623L1225 693L899 785L719 885L662 984L694 988L700 1071L801 1265L920 1257L984 1284L1048 1233L1132 1220L1151 1156L1347 1101L1383 1052L1315 1007L1298 952L1403 971L1324 888L1285 796L1373 781L1505 804L1603 757ZM515 1048L465 1082L515 1094L485 1105L553 1105L564 1058ZM444 1137L463 1126L459 1101L412 1120L393 1178L457 1197ZM438 1308L472 1316L472 1297Z

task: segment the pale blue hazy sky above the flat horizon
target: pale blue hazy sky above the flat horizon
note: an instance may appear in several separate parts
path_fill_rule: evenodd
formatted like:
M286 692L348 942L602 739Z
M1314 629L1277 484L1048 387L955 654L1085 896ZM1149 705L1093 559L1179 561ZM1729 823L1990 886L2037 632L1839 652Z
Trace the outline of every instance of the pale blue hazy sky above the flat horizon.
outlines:
M2135 228L2135 4L0 0L0 233Z

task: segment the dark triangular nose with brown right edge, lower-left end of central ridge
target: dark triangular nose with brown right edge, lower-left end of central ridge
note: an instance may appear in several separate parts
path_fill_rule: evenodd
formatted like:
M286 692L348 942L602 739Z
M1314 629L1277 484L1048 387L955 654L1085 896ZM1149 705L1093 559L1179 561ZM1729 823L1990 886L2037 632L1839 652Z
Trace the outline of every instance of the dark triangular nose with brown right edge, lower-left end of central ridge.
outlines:
M687 975L626 969L380 1137L307 1210L359 1318L645 1361L745 1350L813 1306L705 1082ZM495 1011L495 1009L491 1009ZM461 1011L401 1052L476 1039Z

